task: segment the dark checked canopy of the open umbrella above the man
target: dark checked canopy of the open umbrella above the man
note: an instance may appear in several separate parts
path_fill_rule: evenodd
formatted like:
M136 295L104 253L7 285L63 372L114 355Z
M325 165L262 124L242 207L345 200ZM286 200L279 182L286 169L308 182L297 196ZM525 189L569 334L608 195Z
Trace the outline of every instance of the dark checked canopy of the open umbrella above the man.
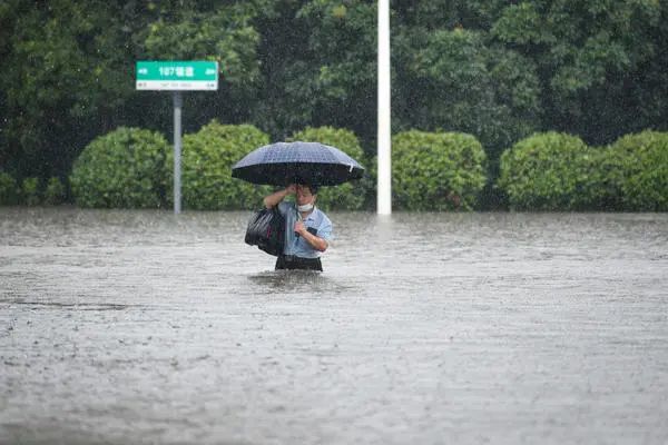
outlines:
M234 178L271 186L335 186L363 175L364 168L340 149L301 141L259 147L232 168Z

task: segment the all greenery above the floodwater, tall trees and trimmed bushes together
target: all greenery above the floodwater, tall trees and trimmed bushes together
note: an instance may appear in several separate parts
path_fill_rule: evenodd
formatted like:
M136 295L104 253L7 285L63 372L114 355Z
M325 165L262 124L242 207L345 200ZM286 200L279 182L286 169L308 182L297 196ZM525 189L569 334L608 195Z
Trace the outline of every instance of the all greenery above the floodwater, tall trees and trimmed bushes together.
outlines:
M391 6L397 208L666 209L668 2ZM341 145L367 168L357 187L323 189L322 204L373 209L376 31L367 1L4 0L0 204L168 207L171 98L137 91L134 67L215 60L218 90L184 98L186 208L250 206L238 195L261 190L228 181L232 157L303 138ZM255 136L232 148L239 131ZM433 162L415 164L412 147ZM110 178L88 166L92 152L110 157L110 171L132 169ZM471 165L458 159L466 152Z

